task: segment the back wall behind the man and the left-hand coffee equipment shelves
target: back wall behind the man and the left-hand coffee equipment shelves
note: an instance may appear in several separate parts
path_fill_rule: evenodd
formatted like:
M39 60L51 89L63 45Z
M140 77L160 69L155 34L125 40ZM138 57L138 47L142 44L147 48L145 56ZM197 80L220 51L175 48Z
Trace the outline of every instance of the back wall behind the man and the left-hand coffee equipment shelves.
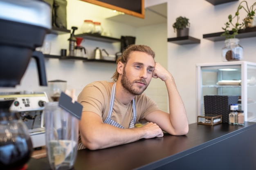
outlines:
M136 44L150 46L156 53L156 61L167 68L167 24L152 25L142 28L135 28L122 23L106 20L108 10L83 2L81 0L67 0L67 29L72 26L79 29L75 34L82 33L81 25L83 20L93 20L101 22L104 31L109 31L114 38L121 38L121 35L135 36ZM157 33L156 33L157 32ZM68 49L70 34L46 35L45 41L52 43L51 55L60 55L61 49ZM164 45L162 45L162 43ZM83 46L88 50L88 55L92 55L96 46L105 48L110 54L115 54L120 50L120 43L102 43L92 40L84 40ZM82 62L79 60L58 60L45 59L47 80L61 79L67 81L67 89L75 89L78 95L82 88L93 81L111 81L115 72L115 63ZM0 88L0 91L48 91L47 87L38 85L37 67L34 59L31 59L25 75L22 77L20 85L16 88ZM152 97L162 110L167 111L166 91L162 90L163 84L158 80L153 80L146 93ZM160 89L159 89L160 88Z

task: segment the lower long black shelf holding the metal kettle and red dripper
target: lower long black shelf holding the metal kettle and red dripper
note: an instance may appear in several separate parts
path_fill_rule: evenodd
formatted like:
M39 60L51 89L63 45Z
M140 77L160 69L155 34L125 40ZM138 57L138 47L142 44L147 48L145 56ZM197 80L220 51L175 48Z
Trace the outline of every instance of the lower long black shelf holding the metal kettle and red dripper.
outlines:
M108 62L108 63L116 63L116 61L112 60L96 60L96 59L88 59L85 57L76 57L76 56L59 56L59 55L48 55L45 54L45 58L56 58L59 60L82 60L83 62Z

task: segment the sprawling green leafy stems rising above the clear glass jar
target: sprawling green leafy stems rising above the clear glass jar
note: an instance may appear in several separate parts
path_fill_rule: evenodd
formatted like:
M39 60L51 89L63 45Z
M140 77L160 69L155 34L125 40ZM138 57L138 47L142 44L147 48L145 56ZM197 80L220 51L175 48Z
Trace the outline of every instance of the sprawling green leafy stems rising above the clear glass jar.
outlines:
M242 3L245 3L246 6L244 7L242 5ZM247 1L243 0L242 2L240 2L234 17L231 14L228 16L229 21L225 23L225 28L222 27L222 29L224 30L224 33L222 33L221 36L225 36L226 40L229 38L235 38L236 35L238 35L239 29L242 29L242 28L245 29L245 27L248 26L249 23L251 23L251 20L253 19L253 16L255 15L255 10L256 10L256 9L254 9L255 5L256 5L256 2L254 2L254 4L252 4L250 7L248 6ZM239 23L240 9L244 9L247 13L247 15L242 23ZM234 19L235 19L235 21L234 21ZM231 26L233 26L233 27L232 27L231 31L229 31Z

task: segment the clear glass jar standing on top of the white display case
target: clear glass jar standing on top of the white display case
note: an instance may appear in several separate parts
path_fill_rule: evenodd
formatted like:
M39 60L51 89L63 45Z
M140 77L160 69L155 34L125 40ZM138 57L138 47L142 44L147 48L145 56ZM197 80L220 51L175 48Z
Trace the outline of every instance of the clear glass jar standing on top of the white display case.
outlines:
M238 38L225 40L225 46L222 48L222 61L239 61L243 59L243 47L239 45Z

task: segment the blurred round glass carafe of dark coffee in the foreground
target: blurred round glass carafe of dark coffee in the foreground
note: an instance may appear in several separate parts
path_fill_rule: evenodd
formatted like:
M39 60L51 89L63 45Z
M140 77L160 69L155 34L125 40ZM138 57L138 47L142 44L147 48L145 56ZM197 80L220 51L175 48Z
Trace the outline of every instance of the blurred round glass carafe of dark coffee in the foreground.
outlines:
M0 169L26 169L33 152L27 126L19 113L10 112L14 99L0 101Z

